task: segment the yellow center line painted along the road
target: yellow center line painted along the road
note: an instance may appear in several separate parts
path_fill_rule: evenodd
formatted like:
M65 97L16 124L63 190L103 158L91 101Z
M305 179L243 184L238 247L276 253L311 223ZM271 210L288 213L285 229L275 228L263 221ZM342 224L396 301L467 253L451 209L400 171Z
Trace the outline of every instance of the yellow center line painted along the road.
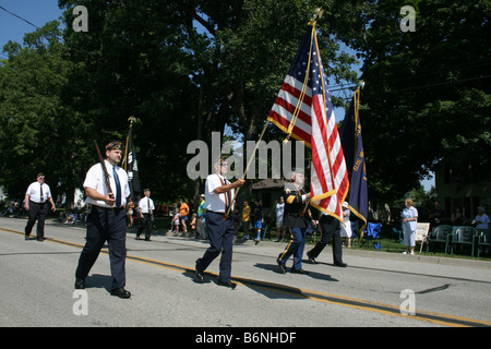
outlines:
M12 229L7 229L7 228L2 228L2 227L0 227L0 230L16 233L16 234L22 234L22 236L24 234L24 232L12 230ZM59 239L55 239L55 238L46 238L45 241L50 241L50 242L69 245L69 246L77 248L77 249L83 249L83 246L84 246L83 244L80 244L80 243L63 241L63 240L59 240ZM108 254L106 249L103 249L101 253ZM183 272L183 273L190 273L190 274L193 274L195 272L194 268L185 267L185 266L178 265L178 264L161 262L161 261L157 261L157 260L141 257L141 256L136 256L136 255L127 255L127 260L144 263L144 264L148 264L148 265L153 265L153 266L159 266L159 267L164 267L164 268L177 270L177 272ZM213 278L218 277L217 273L212 273L212 272L206 272L205 275L208 277L213 277ZM378 302L372 302L372 301L367 301L367 300L361 300L361 299L356 299L356 298L348 298L348 297L338 296L338 294L330 294L330 293L319 292L319 291L313 291L313 290L306 290L306 289L301 289L301 288L290 287L287 285L274 284L274 282L268 282L268 281L263 281L263 280L255 280L255 279L250 279L250 278L244 278L244 277L232 276L232 279L233 279L233 281L236 281L240 285L244 285L244 286L251 287L251 288L260 288L263 290L279 292L279 293L294 296L294 297L298 297L298 298L306 298L306 299L310 299L310 300L314 300L314 301L320 301L320 302L325 302L325 303L331 303L331 304L336 304L336 305L343 305L343 306L354 308L354 309L363 310L363 311L376 312L376 313L392 315L392 316L400 316L400 317L406 317L406 318L410 318L410 320L430 322L430 323L444 325L444 326L452 326L452 327L491 326L491 323L489 323L489 322L482 322L482 321L478 321L478 320L454 316L454 315L448 315L448 314L427 312L427 311L421 311L421 310L416 310L415 315L405 315L400 312L399 306L395 306L395 305L391 305L391 304L378 303Z

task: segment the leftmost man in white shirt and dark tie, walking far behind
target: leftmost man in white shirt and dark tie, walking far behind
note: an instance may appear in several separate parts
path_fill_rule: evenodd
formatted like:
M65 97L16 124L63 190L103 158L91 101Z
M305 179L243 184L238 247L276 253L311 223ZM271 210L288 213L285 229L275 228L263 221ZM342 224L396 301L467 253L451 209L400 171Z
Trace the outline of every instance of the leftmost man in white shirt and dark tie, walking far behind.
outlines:
M45 240L45 220L48 215L48 202L51 205L51 210L55 212L57 207L52 202L51 191L49 185L45 183L45 174L37 173L36 182L31 183L25 192L24 208L28 212L27 225L25 226L24 239L28 240L31 231L37 218L36 239L37 241Z

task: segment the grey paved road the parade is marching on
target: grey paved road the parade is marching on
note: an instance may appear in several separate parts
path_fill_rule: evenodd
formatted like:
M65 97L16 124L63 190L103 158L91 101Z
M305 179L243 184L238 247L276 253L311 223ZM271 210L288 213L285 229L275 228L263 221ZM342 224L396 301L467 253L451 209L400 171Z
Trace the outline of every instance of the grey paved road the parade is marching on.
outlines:
M129 300L109 294L107 254L100 254L86 293L74 270L83 227L48 222L45 242L24 241L25 219L0 218L0 326L371 327L490 326L491 263L379 251L344 250L347 268L332 265L332 250L309 275L282 275L276 256L285 243L233 246L239 286L193 281L194 261L208 244L172 236L152 242L128 234ZM288 263L288 267L289 267ZM83 312L86 311L86 314ZM414 314L408 314L414 311Z

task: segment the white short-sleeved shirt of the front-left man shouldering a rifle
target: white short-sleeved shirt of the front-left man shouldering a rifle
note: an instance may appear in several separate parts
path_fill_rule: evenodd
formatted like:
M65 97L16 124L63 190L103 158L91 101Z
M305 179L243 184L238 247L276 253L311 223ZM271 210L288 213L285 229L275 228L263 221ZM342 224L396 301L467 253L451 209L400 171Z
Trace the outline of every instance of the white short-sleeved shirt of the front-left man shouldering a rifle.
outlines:
M109 164L107 160L104 160L104 164L106 165L107 172L109 173L109 183L111 185L110 192L112 192L112 194L115 194L116 196L116 184L115 179L112 178L112 165ZM123 206L127 204L127 197L130 196L131 194L130 184L128 183L128 174L119 166L116 166L116 173L118 173L119 183L121 186L121 206ZM93 167L88 169L87 174L85 176L84 188L92 188L105 196L109 193L106 185L106 177L104 176L100 163L95 164ZM94 200L89 196L87 196L85 203L87 205L96 205L106 208L115 207L109 206L103 200Z

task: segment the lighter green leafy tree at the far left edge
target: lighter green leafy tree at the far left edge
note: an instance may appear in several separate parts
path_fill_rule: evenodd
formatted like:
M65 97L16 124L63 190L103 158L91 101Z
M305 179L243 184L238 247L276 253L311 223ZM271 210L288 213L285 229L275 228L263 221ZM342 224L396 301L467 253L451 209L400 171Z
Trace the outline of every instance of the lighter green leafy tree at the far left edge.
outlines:
M61 100L71 62L63 59L59 22L26 34L24 46L9 41L0 67L0 182L11 197L23 197L43 171L53 196L69 194L85 159L85 124ZM70 197L70 194L72 197Z

